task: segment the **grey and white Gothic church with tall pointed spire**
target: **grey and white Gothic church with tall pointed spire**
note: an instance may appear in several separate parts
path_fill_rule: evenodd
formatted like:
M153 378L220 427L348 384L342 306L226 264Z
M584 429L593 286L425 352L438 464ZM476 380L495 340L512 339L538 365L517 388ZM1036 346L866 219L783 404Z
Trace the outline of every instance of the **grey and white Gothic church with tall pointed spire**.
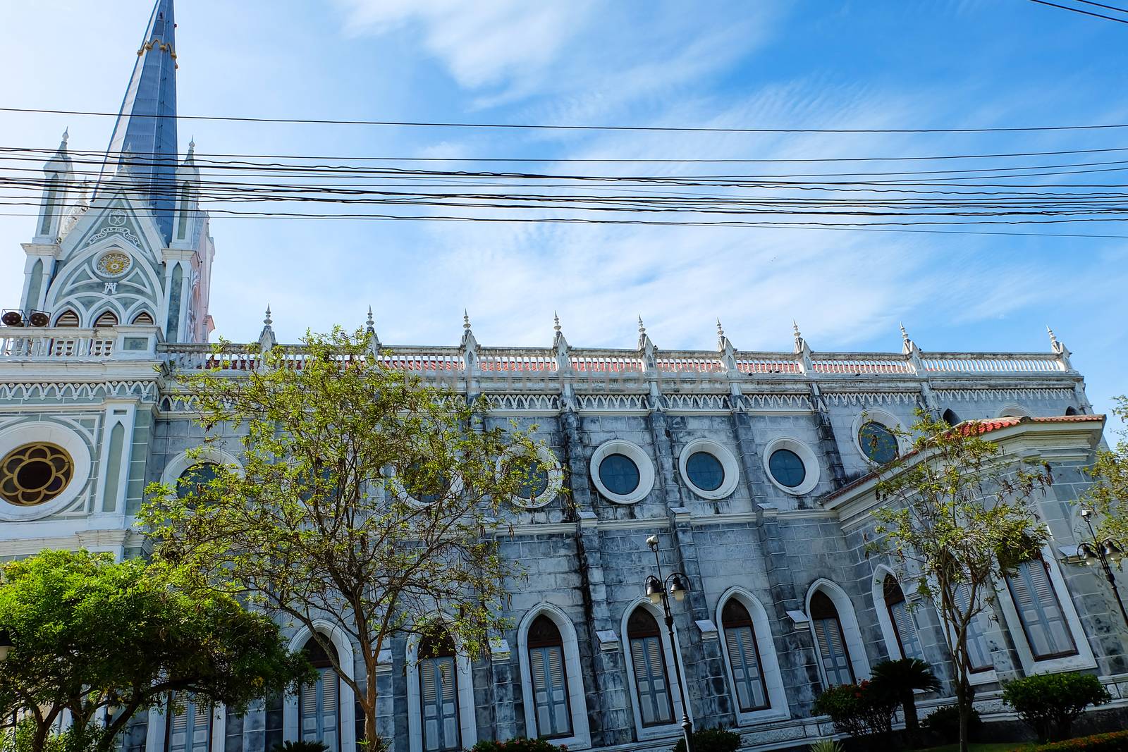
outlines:
M235 435L190 459L203 434L173 389L177 373L214 362L215 326L215 247L195 145L182 154L177 133L173 6L156 3L104 163L80 165L64 133L43 166L23 294L0 317L0 560L44 548L142 555L134 515L149 483L239 462ZM380 345L388 368L491 396L499 424L536 425L555 468L515 499L499 538L527 577L490 654L472 661L448 642L413 661L418 646L400 639L381 655L379 729L395 752L517 736L667 750L682 713L738 731L748 750L805 749L830 733L811 710L823 688L902 656L944 681L922 716L951 702L936 612L914 608L915 590L864 547L873 471L908 449L896 430L917 408L987 419L1007 455L1046 462L1055 478L1038 498L1052 534L1042 558L997 583L969 636L985 719L1008 717L1002 682L1046 672L1093 673L1113 709L1128 707L1128 628L1077 555L1083 469L1104 418L1052 331L1042 353L927 352L904 329L901 352L828 353L797 326L784 352L739 350L720 322L708 351L663 350L642 321L622 350L573 347L558 320L545 329L543 347L479 344L469 319L450 346ZM258 368L275 344L267 311L259 342L228 347L223 362ZM673 639L645 593L652 536L663 573L686 586L671 603ZM353 665L354 646L325 628ZM310 636L288 637L298 648ZM153 710L123 749L267 752L316 738L354 752L352 692L328 655L311 658L320 678L297 696L244 715Z

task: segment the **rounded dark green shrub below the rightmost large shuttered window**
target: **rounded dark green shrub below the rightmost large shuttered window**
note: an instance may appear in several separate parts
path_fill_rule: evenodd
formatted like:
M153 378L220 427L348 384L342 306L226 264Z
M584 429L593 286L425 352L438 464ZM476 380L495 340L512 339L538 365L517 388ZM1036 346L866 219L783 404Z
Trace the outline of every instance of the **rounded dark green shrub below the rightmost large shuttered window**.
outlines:
M1039 742L1069 737L1073 722L1090 705L1112 699L1092 674L1034 674L1003 688L1003 701L1034 729Z

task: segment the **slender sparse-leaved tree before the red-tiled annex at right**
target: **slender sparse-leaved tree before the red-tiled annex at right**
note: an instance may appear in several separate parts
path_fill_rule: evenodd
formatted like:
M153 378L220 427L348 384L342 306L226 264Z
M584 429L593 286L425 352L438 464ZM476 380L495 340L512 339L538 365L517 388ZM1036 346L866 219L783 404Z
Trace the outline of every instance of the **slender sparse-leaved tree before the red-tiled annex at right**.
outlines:
M990 608L995 583L1041 555L1047 539L1033 510L1051 483L1049 468L1004 455L975 421L949 426L924 410L913 426L913 451L879 471L871 554L887 555L902 580L935 605L949 636L960 707L960 750L968 749L971 695L968 628Z

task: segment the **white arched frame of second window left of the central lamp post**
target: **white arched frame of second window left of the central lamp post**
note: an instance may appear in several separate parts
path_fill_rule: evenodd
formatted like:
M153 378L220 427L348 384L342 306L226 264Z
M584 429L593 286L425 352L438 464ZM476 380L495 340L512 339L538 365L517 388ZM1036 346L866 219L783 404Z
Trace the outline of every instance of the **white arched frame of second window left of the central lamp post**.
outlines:
M591 746L591 729L588 726L588 701L583 688L583 672L580 667L580 643L572 620L557 607L540 603L530 609L517 628L517 651L521 666L521 697L525 698L525 735L534 738L537 732L537 708L532 701L532 670L529 665L529 627L539 616L552 619L564 643L564 675L567 678L569 713L572 714L572 735L553 738L553 744L570 750L585 750Z

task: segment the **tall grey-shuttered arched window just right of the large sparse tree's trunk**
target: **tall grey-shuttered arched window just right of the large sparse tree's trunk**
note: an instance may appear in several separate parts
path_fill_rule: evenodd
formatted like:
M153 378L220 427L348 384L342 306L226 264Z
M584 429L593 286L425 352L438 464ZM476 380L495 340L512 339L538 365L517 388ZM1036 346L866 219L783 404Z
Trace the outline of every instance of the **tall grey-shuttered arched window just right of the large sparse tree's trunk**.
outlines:
M420 707L425 752L460 750L458 660L447 632L420 642Z

